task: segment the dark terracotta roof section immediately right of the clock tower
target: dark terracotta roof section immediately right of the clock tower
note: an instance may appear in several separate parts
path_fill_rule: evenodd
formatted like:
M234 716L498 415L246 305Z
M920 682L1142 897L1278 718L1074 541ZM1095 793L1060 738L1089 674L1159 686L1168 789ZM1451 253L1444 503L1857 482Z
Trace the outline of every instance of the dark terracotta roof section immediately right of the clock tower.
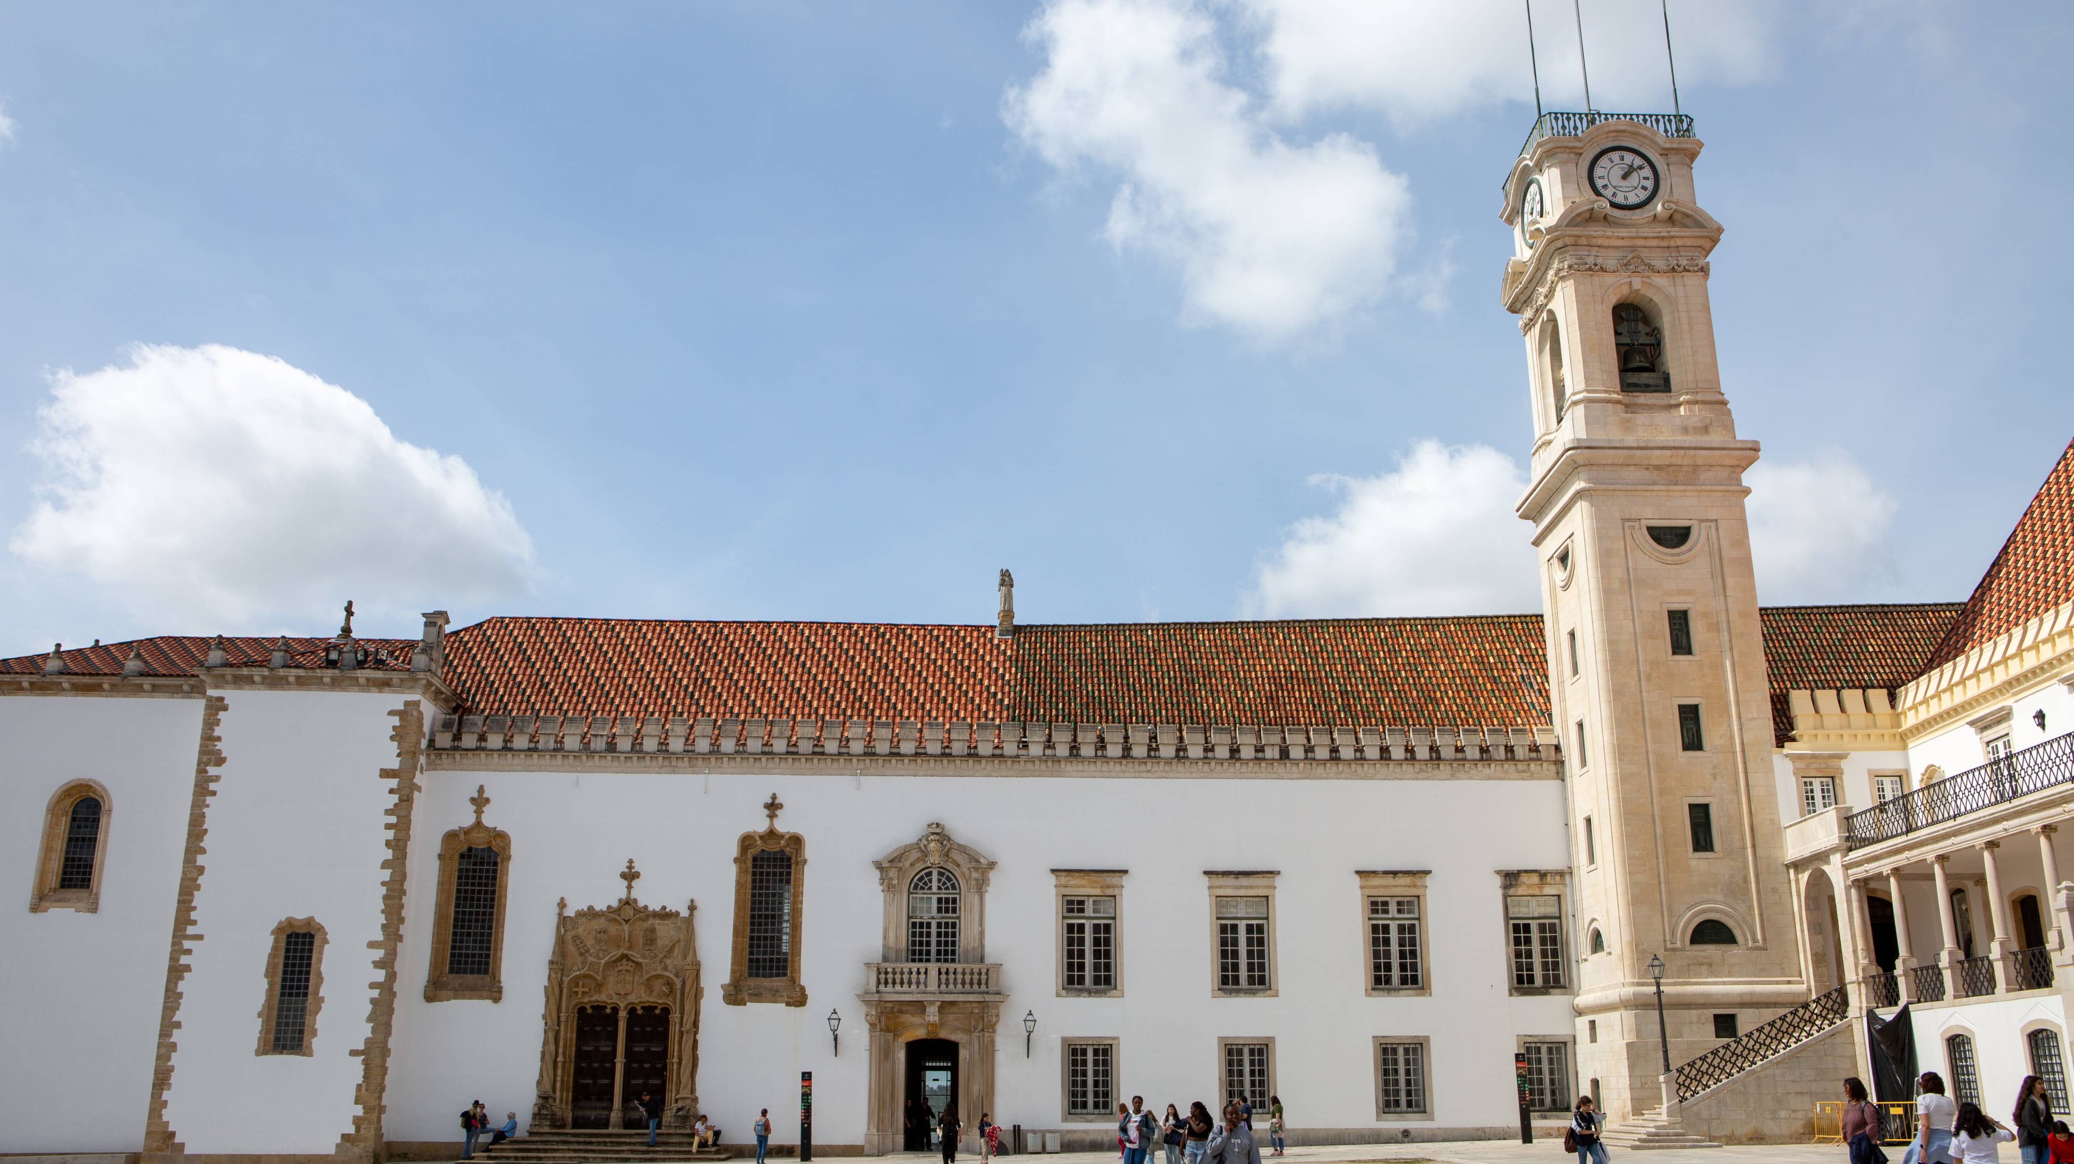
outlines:
M1792 739L1786 693L1813 687L1896 689L1929 668L1958 602L1765 606L1757 612L1771 668L1771 730Z

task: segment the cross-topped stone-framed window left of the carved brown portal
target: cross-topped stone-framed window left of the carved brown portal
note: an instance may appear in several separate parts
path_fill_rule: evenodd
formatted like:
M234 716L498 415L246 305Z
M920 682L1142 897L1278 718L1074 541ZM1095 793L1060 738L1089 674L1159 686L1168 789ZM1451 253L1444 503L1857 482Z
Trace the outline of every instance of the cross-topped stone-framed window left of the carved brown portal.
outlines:
M504 898L512 838L483 824L489 797L469 797L475 822L440 838L440 882L431 911L425 1002L504 998Z

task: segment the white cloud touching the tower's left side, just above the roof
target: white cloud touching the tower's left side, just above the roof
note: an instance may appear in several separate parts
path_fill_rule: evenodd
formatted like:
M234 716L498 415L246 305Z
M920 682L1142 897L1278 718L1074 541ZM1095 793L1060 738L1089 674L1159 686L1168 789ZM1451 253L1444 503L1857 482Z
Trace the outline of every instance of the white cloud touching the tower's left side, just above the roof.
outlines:
M1541 608L1520 467L1485 444L1421 440L1377 477L1319 475L1340 508L1290 527L1255 571L1263 616L1510 614Z

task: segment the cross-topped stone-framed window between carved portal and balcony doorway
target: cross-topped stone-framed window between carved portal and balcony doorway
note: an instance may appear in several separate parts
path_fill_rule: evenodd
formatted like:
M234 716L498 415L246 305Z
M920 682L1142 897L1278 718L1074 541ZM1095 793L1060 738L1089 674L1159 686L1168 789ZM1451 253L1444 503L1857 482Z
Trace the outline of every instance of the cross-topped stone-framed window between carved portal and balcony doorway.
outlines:
M774 793L763 803L769 822L734 842L734 940L728 948L726 1006L749 1002L807 1004L801 981L805 934L807 838L778 828L784 805Z

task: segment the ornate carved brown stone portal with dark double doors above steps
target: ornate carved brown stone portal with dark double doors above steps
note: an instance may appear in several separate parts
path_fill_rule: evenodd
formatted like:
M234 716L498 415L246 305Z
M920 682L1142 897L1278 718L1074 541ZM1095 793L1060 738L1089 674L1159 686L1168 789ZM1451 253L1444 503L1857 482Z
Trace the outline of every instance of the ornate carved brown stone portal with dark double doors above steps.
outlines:
M556 903L533 1127L626 1127L643 1089L662 1091L664 1127L699 1114L699 903L647 907L633 861L620 878L610 909Z

